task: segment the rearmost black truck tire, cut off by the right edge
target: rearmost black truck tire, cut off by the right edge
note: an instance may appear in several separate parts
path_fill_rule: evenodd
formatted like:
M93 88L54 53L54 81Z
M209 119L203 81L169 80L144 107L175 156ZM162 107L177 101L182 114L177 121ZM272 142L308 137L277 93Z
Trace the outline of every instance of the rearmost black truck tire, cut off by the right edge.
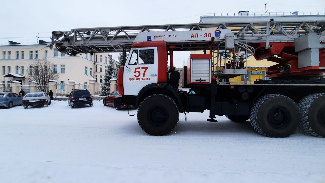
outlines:
M299 101L300 128L305 134L325 137L325 93L307 95Z

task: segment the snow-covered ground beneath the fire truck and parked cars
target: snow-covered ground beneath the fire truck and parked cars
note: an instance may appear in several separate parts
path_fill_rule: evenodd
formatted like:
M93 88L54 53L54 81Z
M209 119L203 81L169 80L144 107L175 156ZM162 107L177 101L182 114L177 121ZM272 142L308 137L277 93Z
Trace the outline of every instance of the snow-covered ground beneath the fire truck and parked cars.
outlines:
M325 182L325 138L207 117L181 114L171 134L150 136L102 101L0 109L0 182Z

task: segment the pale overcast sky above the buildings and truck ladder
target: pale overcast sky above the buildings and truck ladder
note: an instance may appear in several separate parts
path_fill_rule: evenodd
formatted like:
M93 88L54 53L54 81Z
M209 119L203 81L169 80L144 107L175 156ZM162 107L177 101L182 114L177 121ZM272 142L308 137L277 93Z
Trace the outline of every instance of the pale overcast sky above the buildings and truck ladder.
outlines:
M51 31L73 28L198 23L204 13L250 12L324 12L325 0L0 0L0 45L7 40L22 44L49 41ZM181 67L189 51L176 53Z

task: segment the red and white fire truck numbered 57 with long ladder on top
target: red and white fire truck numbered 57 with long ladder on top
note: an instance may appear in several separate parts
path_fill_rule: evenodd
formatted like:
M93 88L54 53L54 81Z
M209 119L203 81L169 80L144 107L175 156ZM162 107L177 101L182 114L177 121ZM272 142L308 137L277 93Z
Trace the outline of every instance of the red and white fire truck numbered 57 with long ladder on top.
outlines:
M138 123L150 135L172 132L179 113L209 110L208 121L250 120L269 137L299 127L325 137L325 15L207 16L197 24L53 31L51 39L51 49L68 55L129 51L114 106L138 108ZM182 76L173 60L179 50L203 51L190 54ZM247 73L249 56L277 63L267 68L270 79L228 82Z

